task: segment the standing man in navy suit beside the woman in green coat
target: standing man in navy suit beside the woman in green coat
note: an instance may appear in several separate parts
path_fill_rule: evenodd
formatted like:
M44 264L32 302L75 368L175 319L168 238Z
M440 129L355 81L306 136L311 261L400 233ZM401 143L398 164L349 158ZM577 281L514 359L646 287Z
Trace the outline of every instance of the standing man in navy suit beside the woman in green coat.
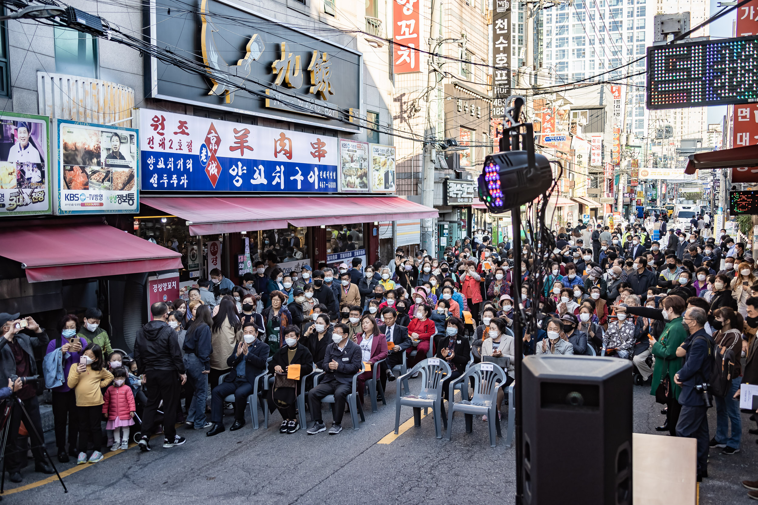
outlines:
M704 328L707 321L706 311L700 307L691 307L684 313L682 322L690 329L690 337L682 344L687 346L684 366L674 376L674 382L681 386L676 435L697 438L697 482L708 476L708 407L703 394L695 389L708 382L713 367L714 342Z

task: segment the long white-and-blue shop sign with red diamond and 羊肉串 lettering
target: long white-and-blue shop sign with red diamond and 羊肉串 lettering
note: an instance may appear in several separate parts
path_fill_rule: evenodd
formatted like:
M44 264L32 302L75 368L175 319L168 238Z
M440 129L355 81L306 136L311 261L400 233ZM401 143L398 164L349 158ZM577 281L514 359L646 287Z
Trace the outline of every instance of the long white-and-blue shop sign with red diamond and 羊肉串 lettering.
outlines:
M139 110L143 191L336 193L336 137Z

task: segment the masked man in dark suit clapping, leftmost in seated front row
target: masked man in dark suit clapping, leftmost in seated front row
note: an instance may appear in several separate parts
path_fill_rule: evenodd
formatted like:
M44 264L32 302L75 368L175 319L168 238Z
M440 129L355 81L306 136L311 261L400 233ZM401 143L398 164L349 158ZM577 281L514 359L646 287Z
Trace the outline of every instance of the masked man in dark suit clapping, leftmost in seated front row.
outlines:
M272 295L273 296L273 295ZM205 433L208 437L224 432L224 398L234 395L234 422L231 432L245 426L245 407L247 397L252 394L255 381L265 372L266 361L271 348L258 338L258 328L255 323L246 323L235 335L236 344L229 357L227 366L229 373L211 392L211 422L214 426ZM293 326L287 326L292 328ZM289 344L288 344L289 345ZM258 387L261 391L262 387ZM258 398L255 398L258 401Z

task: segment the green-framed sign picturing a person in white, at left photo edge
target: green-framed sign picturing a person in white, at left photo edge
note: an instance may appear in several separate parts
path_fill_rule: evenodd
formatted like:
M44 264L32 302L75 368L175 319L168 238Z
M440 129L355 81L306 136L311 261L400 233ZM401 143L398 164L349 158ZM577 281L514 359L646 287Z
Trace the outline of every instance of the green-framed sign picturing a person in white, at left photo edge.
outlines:
M50 214L50 119L0 114L0 217Z

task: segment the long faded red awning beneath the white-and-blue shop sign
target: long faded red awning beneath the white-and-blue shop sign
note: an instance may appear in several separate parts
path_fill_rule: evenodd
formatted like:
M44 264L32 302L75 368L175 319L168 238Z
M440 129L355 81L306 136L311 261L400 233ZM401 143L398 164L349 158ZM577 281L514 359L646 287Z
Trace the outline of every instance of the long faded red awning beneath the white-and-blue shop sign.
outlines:
M438 216L437 209L397 196L146 196L140 201L188 221L190 235Z

